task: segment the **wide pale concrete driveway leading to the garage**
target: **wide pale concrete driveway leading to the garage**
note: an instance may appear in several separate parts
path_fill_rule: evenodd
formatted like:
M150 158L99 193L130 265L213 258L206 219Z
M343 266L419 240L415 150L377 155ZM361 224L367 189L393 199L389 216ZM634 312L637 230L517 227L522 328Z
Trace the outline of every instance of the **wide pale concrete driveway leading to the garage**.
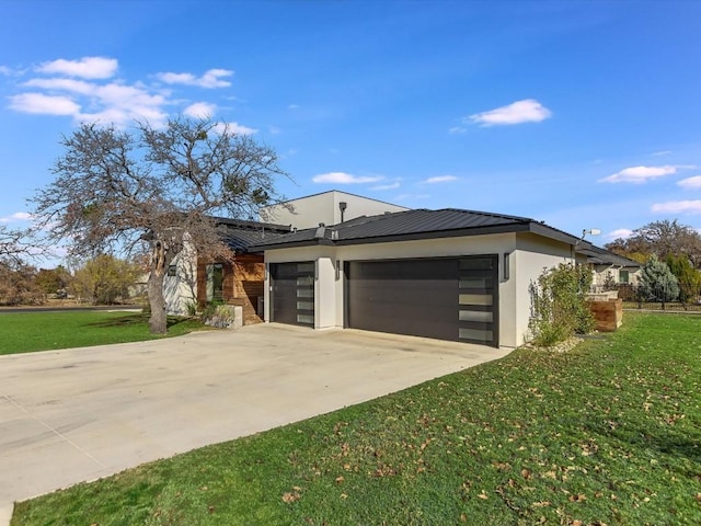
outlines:
M258 324L0 356L0 525L14 501L506 354L411 336Z

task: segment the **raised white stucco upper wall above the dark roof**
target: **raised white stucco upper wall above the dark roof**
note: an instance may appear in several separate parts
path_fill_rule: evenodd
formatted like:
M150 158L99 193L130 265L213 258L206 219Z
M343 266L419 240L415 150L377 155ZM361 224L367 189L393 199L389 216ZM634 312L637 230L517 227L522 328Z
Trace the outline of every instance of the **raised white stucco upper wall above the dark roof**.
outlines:
M287 202L287 204L291 205L292 210L283 205L274 205L261 208L260 215L263 221L291 225L300 230L318 227L320 222L330 226L341 222L340 203L342 202L346 203L344 211L344 220L346 221L360 216L377 216L386 211L409 209L359 195L331 191Z

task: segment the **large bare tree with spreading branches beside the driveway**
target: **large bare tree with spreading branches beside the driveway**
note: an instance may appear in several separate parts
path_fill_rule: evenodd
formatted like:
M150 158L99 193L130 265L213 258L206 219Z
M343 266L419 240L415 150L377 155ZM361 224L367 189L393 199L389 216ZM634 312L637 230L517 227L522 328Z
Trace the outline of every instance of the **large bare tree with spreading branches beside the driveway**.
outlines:
M150 328L166 331L163 277L189 243L200 256L230 259L212 219L249 217L280 196L276 152L210 119L176 118L131 132L84 124L61 141L56 179L32 199L35 217L71 255L150 254Z

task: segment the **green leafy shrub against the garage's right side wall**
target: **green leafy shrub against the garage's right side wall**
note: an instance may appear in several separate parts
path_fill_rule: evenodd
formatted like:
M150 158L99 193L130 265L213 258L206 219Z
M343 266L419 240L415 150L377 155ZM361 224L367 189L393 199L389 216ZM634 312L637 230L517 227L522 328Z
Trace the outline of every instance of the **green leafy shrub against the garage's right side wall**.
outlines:
M586 301L591 278L588 266L561 263L545 268L538 283L531 283L529 329L536 345L550 347L574 334L591 332L594 315Z

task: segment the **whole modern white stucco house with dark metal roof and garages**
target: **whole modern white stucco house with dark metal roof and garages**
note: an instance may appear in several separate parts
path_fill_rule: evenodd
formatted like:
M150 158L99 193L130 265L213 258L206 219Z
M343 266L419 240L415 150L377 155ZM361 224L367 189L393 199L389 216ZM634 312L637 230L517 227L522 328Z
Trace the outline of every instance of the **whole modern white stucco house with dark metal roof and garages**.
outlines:
M407 209L337 191L261 217L269 222L220 219L233 263L182 259L166 284L181 312L188 297L240 305L245 322L516 347L529 339L530 290L543 270L588 262L621 276L634 264L530 218Z

